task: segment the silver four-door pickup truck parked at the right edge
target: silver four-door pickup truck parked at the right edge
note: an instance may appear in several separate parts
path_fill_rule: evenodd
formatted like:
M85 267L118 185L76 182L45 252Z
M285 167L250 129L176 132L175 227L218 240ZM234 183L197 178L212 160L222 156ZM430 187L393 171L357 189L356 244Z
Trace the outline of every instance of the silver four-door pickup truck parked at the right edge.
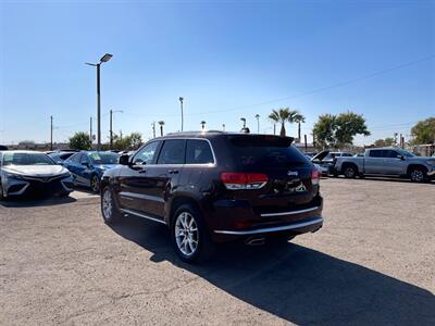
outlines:
M434 178L435 159L415 156L400 148L375 148L366 149L362 158L338 158L335 170L347 178L358 175L387 175L422 183Z

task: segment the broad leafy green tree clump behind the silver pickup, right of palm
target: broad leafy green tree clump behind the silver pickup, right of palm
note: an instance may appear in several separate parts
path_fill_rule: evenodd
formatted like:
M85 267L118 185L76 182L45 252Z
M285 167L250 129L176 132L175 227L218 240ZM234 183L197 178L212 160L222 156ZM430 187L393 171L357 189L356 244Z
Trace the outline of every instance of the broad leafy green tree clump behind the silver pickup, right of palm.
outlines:
M365 118L353 112L323 114L313 126L313 137L320 147L338 148L352 145L356 135L369 136Z

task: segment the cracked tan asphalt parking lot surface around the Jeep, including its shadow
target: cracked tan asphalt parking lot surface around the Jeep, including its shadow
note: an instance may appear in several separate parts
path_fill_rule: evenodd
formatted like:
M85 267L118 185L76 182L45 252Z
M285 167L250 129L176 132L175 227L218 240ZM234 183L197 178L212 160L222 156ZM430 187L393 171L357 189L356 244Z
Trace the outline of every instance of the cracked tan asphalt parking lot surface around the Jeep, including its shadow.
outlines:
M0 324L435 325L435 184L321 185L319 233L196 266L88 192L0 203Z

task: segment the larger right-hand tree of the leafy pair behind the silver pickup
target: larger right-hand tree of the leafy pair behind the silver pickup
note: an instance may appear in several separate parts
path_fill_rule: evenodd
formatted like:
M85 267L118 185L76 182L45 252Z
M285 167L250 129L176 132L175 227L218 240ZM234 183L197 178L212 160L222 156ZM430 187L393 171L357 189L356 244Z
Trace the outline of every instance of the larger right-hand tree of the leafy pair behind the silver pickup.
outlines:
M370 136L365 125L365 118L353 112L340 113L335 120L335 138L339 147L352 145L356 135Z

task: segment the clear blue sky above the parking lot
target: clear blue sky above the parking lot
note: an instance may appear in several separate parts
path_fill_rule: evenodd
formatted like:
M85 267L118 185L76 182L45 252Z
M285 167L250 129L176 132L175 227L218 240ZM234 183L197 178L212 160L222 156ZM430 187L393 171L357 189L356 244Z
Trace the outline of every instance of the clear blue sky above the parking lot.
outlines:
M179 96L190 130L238 130L241 116L256 130L258 113L272 133L266 115L290 106L310 135L319 114L352 110L372 131L357 143L435 115L434 1L3 0L0 24L0 142L48 141L50 115L55 141L88 131L96 72L84 62L105 52L103 139L110 109L124 111L116 131L178 130Z

